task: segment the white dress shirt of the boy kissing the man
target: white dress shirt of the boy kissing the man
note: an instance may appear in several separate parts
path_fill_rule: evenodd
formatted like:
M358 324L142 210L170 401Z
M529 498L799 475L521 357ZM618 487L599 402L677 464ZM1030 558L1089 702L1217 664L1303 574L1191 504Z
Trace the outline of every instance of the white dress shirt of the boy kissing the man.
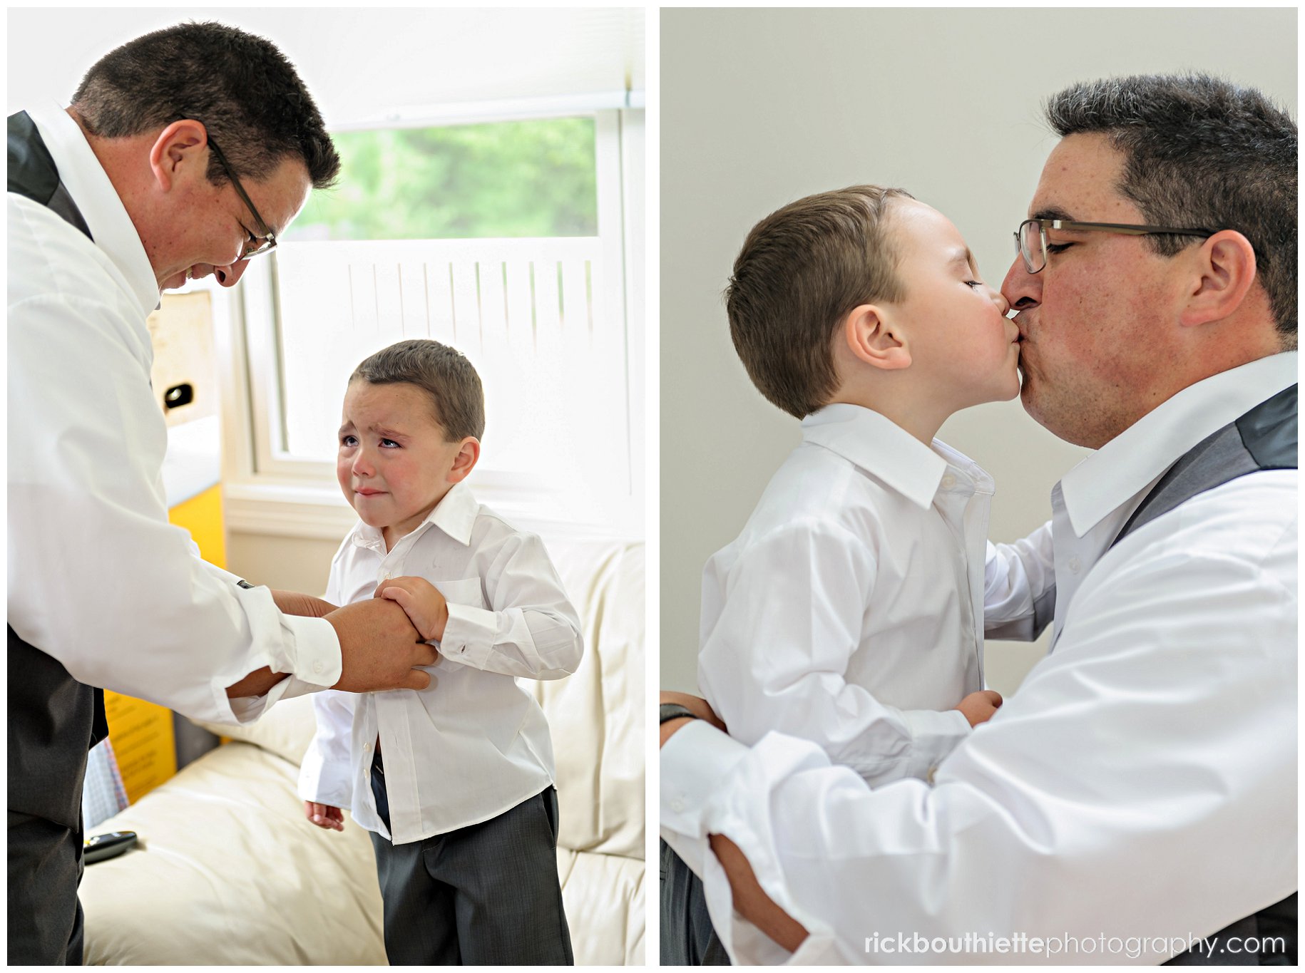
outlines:
M872 784L927 776L970 734L954 707L983 689L992 492L974 462L878 412L803 420L703 570L698 687L729 734L809 740Z

